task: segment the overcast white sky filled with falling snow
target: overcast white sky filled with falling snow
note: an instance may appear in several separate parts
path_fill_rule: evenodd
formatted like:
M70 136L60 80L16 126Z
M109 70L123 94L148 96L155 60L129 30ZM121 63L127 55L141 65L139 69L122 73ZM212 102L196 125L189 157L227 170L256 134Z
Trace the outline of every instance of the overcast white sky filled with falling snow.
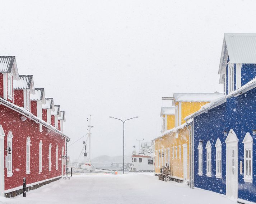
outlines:
M161 97L222 92L224 33L255 33L256 1L1 1L1 55L65 110L71 142L87 133L92 156L126 154L160 133ZM72 148L71 148L72 147ZM83 140L70 147L76 159Z

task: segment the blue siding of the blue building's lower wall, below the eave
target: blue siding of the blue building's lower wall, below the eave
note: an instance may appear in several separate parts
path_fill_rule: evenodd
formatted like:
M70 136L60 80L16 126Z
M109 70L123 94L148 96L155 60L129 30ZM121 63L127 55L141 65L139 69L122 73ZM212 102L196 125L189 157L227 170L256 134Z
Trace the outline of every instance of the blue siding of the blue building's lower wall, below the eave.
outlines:
M256 137L252 130L256 129L256 88L240 96L227 99L227 102L194 118L194 158L195 158L195 187L226 193L226 137L223 131L233 129L238 137L238 198L256 201ZM243 161L243 138L249 132L253 137L253 183L243 181L239 174L239 162ZM222 142L222 179L216 178L216 149L217 139ZM203 176L198 175L199 140L203 140ZM211 142L212 177L206 177L206 142ZM244 164L243 164L244 167Z

